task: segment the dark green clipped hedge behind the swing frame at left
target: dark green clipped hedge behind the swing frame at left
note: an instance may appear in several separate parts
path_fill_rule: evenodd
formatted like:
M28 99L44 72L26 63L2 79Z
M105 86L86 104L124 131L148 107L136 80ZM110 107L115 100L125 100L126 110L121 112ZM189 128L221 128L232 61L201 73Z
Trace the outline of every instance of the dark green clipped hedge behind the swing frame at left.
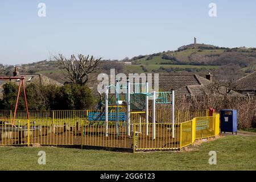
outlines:
M0 100L0 108L14 110L18 85L7 82L3 85L3 98ZM26 86L27 104L29 110L82 110L92 109L95 99L88 86L66 84ZM26 109L24 105L24 93L21 91L18 102L18 110Z

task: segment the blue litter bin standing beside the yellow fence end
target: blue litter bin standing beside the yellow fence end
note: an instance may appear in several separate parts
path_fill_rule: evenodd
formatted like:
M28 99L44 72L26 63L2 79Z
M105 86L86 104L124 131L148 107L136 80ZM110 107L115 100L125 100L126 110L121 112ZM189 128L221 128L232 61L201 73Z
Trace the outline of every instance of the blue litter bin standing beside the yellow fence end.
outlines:
M224 109L220 111L221 133L236 132L237 134L237 110Z

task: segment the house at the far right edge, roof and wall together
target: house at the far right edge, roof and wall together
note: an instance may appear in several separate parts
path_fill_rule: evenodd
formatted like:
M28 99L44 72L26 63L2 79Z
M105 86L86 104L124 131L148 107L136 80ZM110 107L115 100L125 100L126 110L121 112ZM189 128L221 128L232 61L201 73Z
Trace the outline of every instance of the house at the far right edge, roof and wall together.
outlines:
M240 78L239 80L237 80L236 84L237 92L248 97L256 96L256 71L245 77Z

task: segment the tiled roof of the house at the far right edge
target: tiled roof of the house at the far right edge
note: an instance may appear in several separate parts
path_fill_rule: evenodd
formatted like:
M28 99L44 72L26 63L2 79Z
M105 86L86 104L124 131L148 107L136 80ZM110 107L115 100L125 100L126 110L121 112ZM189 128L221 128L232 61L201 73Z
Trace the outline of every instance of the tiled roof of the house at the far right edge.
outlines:
M236 90L256 90L256 71L237 80Z

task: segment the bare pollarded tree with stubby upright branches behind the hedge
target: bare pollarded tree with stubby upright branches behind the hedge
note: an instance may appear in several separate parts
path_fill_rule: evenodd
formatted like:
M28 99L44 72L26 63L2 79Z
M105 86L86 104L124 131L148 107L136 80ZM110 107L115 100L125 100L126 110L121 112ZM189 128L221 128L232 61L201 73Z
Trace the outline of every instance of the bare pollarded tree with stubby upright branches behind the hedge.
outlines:
M57 67L64 70L67 73L67 77L73 82L73 84L85 85L89 79L91 73L96 72L101 63L101 57L95 59L94 56L71 55L71 59L67 59L62 54L54 56L57 61Z

